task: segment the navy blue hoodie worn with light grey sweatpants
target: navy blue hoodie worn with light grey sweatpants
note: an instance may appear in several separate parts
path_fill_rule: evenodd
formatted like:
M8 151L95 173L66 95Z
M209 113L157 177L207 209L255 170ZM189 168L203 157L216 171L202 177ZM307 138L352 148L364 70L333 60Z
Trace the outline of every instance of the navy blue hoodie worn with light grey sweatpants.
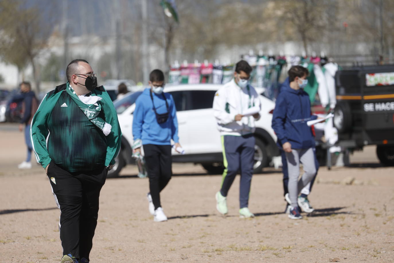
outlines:
M290 88L289 78L281 86L272 116L272 129L275 131L279 149L290 142L292 149L314 147L312 130L307 121L316 119L310 113L309 95L303 89Z

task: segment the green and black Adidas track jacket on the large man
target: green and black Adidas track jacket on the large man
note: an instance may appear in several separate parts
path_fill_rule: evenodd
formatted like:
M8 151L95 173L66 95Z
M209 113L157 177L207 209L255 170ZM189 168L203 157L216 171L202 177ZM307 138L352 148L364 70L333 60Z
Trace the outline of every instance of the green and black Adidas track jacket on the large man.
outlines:
M113 103L103 86L92 91L102 97L99 117L112 125L108 136L82 112L65 91L66 84L47 93L35 113L30 139L37 162L51 162L68 172L91 171L115 163L121 146L121 129Z

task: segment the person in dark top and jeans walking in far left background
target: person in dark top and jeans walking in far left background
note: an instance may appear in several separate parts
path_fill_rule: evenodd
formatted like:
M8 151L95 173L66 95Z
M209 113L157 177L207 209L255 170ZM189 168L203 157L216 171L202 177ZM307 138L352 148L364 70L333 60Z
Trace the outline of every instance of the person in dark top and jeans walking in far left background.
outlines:
M30 169L32 168L32 142L30 141L30 124L32 123L33 115L38 108L38 101L35 97L34 91L30 86L30 82L22 82L20 84L20 94L23 97L22 102L22 119L19 124L19 131L24 132L25 142L27 146L27 157L26 160L18 165L19 169ZM19 97L18 96L18 97ZM13 98L15 99L15 97Z

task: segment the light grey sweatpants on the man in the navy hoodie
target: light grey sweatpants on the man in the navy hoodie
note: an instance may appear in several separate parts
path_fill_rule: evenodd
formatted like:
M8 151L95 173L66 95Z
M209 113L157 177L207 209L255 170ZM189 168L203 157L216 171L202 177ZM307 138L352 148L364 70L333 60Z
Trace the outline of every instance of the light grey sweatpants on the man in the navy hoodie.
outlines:
M289 197L292 201L292 206L298 206L298 194L315 176L316 166L313 149L292 149L291 153L286 153L286 160L289 173ZM299 163L302 163L304 174L299 177Z

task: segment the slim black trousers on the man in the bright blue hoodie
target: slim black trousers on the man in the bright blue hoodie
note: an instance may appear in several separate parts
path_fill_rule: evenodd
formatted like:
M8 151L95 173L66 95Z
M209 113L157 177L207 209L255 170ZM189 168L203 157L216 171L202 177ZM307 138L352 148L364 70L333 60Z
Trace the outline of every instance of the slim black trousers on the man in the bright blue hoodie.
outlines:
M172 176L171 145L144 144L144 158L154 209L161 207L160 192Z

